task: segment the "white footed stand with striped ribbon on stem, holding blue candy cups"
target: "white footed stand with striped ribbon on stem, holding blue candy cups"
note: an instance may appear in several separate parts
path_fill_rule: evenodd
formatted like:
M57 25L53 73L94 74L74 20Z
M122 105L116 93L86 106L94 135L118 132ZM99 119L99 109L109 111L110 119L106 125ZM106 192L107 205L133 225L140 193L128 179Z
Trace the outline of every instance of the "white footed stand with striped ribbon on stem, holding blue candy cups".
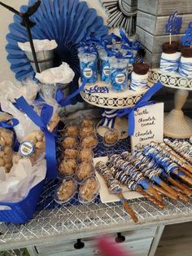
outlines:
M81 91L81 97L89 104L97 106L99 108L105 108L103 112L103 119L98 121L97 132L98 135L104 136L105 132L111 128L112 121L115 121L114 128L119 131L119 139L125 139L128 137L128 119L126 117L116 117L118 109L133 107L146 90L125 90L116 92L110 89L104 90L108 86L105 82L95 82L94 84L87 84L84 90ZM93 88L101 92L91 92ZM103 90L101 89L103 88ZM104 91L104 92L102 92ZM114 120L115 117L115 120Z

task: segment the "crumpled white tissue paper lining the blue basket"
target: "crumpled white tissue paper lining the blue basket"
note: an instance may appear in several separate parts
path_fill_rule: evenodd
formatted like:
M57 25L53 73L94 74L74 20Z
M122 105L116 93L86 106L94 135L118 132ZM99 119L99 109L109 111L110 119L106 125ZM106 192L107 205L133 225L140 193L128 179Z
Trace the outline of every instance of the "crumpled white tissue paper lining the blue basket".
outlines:
M0 167L0 201L17 202L28 195L31 188L35 187L46 178L46 160L37 161L34 166L28 159L21 159L17 165L12 166L10 173ZM0 210L7 209L0 206Z

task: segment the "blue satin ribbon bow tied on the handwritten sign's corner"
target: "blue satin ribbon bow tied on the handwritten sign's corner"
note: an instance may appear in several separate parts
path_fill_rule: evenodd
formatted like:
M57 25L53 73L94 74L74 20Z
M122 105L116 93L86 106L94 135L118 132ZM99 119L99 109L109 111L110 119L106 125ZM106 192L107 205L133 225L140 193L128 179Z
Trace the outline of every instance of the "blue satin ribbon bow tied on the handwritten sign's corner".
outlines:
M134 134L135 130L135 117L134 112L137 110L137 108L142 108L146 105L155 104L155 101L148 101L151 99L152 95L155 95L155 93L160 90L163 87L161 82L156 82L154 86L152 86L149 90L146 91L144 95L142 95L142 98L137 101L137 103L131 107L131 108L124 108L122 110L118 110L117 117L129 117L129 136L132 136Z

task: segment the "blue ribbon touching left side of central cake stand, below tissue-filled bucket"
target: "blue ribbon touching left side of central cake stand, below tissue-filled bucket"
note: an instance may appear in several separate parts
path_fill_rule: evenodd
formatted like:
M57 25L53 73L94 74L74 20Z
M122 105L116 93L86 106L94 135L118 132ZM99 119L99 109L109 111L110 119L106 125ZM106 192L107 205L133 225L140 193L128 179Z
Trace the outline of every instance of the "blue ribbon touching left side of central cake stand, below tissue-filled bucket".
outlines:
M74 91L71 95L68 95L67 97L63 98L63 92L61 90L58 90L56 93L56 101L61 107L66 107L67 105L71 104L71 99L74 98L76 95L78 95L81 90L85 88L86 82L82 82L81 86L78 90Z

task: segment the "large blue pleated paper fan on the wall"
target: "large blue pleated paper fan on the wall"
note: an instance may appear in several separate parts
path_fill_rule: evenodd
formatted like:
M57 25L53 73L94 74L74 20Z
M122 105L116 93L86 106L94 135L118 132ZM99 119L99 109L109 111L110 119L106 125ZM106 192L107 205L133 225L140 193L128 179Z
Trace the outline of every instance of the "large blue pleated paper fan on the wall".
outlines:
M36 0L29 0L31 6ZM24 12L28 6L20 7ZM103 25L103 18L89 8L86 2L78 0L41 0L41 6L30 17L36 22L32 28L33 39L55 39L58 48L55 49L55 67L62 61L67 62L75 72L75 77L70 85L73 92L78 88L80 77L79 59L76 45L90 35L107 38L108 28ZM14 15L14 23L9 25L10 33L7 34L7 60L11 63L11 70L17 80L34 76L34 71L24 51L20 50L18 42L27 42L28 34L20 24L20 16Z

